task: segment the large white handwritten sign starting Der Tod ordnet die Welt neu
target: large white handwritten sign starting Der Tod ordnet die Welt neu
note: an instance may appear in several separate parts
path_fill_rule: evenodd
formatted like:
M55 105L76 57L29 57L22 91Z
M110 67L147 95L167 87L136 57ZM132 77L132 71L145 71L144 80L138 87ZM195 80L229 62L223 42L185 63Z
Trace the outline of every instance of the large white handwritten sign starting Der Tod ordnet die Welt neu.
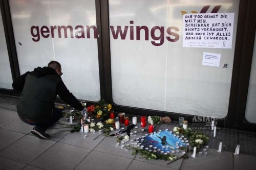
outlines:
M183 15L183 47L231 48L234 13Z

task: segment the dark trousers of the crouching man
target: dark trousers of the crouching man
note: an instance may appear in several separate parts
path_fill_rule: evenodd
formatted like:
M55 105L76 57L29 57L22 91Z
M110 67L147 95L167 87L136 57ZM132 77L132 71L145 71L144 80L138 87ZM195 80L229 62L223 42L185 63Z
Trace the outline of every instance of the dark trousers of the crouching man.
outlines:
M53 124L55 124L56 122L58 122L58 120L62 117L62 112L60 109L58 108L54 108L54 111L52 113L52 117L49 118L48 120L46 120L45 122L33 122L30 121L28 119L25 119L23 117L20 117L20 119L22 119L23 122L25 122L26 124L29 125L34 125L37 128L39 128L42 131L46 131L50 126L52 126Z

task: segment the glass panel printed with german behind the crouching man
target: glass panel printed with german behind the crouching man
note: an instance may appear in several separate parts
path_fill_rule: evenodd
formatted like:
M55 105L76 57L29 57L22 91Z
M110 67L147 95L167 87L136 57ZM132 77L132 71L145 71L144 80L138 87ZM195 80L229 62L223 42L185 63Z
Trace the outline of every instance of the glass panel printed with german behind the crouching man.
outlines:
M9 4L20 74L56 60L78 99L100 100L95 0Z

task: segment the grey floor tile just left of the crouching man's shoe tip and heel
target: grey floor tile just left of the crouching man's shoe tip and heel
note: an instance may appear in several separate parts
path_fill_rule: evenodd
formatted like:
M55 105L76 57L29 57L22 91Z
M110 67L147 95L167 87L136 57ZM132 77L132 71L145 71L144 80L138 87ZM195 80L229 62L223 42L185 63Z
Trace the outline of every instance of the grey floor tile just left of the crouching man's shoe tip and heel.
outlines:
M15 132L21 132L21 133L28 134L29 132L31 132L33 127L34 126L22 122L22 120L20 120L20 118L17 118L15 120L13 120L12 122L10 122L9 124L3 126L2 128L12 130Z

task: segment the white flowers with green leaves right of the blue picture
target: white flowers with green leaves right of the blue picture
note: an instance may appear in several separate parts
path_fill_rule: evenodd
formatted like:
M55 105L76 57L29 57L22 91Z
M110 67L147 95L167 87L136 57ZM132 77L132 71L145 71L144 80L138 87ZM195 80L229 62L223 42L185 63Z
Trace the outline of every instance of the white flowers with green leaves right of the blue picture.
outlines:
M208 144L209 137L204 135L203 133L200 133L198 131L192 130L191 128L187 128L186 130L184 128L178 128L174 127L173 131L176 134L183 134L188 139L190 139L190 146L191 147L197 147L198 149L202 148L203 145Z

